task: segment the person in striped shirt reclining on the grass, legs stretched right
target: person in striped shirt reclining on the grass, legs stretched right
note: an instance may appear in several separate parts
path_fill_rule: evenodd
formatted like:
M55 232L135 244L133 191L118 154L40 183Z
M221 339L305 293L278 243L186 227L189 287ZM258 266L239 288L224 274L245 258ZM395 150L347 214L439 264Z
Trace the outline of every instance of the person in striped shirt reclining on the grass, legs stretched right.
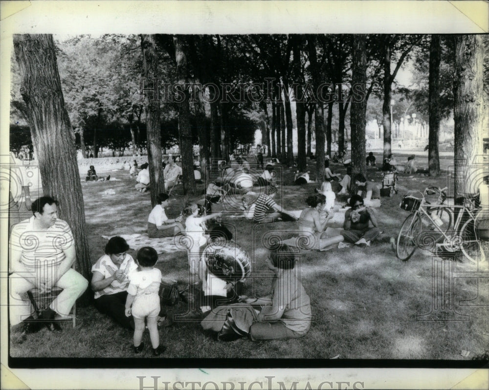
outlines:
M251 201L252 204L255 205L253 222L265 224L268 222L277 221L297 221L297 218L293 214L282 208L282 206L277 205L277 203L272 199L277 191L277 187L269 185L267 186L267 194L262 193L258 196L258 198ZM252 206L252 204L249 204L249 202L250 198L245 195L243 197L243 206L245 209Z

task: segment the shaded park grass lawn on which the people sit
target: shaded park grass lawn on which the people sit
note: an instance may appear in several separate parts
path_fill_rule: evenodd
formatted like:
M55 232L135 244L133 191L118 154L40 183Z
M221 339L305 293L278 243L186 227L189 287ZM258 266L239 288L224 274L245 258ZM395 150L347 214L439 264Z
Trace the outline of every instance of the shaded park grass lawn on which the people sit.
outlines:
M377 156L381 160L380 156ZM449 160L441 161L446 169ZM315 162L310 162L314 171ZM426 163L425 163L426 165ZM342 166L333 166L335 172L344 173ZM369 170L370 179L381 183L381 173ZM89 238L90 258L94 263L104 251L107 242L102 235L143 232L151 211L149 193L133 188L134 178L127 171L114 171L111 175L121 181L106 183L82 182ZM290 184L293 170L284 169L284 183ZM428 184L446 185L445 176L437 179L422 175L400 175L399 194L383 198L378 209L378 220L384 231L381 242L372 247L334 248L325 252L304 252L300 262L301 278L311 297L313 320L308 334L289 341L252 342L239 339L218 342L216 336L202 331L202 316L190 312L184 320L160 329L161 343L166 345L167 358L331 358L341 359L470 359L481 355L489 345L487 280L459 278L454 282L455 310L467 315L467 321L450 321L453 310L446 309L447 321L417 321L416 315L432 308L431 254L417 250L407 262L395 256L389 237L397 233L407 212L399 208L403 194L422 190ZM302 209L305 198L316 185L303 187L283 185L278 201L289 210ZM114 189L116 195L105 195ZM203 185L198 186L199 192ZM167 208L170 218L177 216L184 203L181 186L172 192L174 201ZM197 200L200 196L187 197ZM185 199L185 200L187 200ZM248 296L269 293L271 273L264 264L266 250L262 235L270 230L286 237L294 229L290 223L253 226L243 219L223 220L235 229L236 242L253 259L256 278L245 284ZM135 257L133 250L130 253ZM473 271L467 263L453 263L455 271ZM161 254L159 267L164 276L178 280L183 289L188 284L187 254L183 251ZM486 266L487 268L487 263ZM486 269L487 270L487 269ZM435 297L436 298L436 297ZM461 300L475 299L479 306L460 306ZM187 307L179 303L171 308L175 314ZM77 308L76 328L70 323L62 325L61 334L47 329L20 340L20 330L10 334L12 357L134 357L132 332L115 325L92 306ZM150 345L146 332L143 341ZM470 351L465 358L462 350ZM153 357L146 348L138 357Z

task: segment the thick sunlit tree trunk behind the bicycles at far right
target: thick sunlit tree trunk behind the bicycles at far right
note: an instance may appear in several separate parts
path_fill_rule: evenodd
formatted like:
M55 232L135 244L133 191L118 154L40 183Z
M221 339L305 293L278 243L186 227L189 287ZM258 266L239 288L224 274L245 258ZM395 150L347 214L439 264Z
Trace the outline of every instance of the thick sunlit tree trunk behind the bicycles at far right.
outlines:
M455 36L455 196L474 194L482 177L484 119L484 45L482 35Z

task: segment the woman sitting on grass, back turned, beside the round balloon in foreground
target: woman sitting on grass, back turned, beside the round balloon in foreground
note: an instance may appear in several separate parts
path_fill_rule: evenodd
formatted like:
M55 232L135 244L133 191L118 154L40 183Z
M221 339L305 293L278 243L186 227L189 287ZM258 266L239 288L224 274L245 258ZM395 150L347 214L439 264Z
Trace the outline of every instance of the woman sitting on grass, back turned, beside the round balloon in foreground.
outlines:
M298 255L298 249L282 244L267 256L265 264L275 273L272 293L245 300L252 305L265 305L258 322L250 327L252 340L298 338L311 327L310 299L294 269Z

